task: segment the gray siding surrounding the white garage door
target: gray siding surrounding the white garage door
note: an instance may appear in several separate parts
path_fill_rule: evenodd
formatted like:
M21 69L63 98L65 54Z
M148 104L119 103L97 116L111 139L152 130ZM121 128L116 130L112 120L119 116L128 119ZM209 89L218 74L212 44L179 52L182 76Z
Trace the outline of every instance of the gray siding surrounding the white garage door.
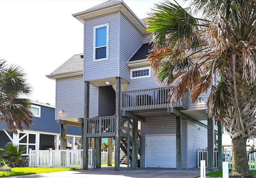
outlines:
M161 124L165 127L161 128ZM186 168L186 120L182 119L182 168ZM157 118L145 118L144 122L141 122L141 156L140 166L145 167L145 139L146 135L176 135L176 117L157 117Z

